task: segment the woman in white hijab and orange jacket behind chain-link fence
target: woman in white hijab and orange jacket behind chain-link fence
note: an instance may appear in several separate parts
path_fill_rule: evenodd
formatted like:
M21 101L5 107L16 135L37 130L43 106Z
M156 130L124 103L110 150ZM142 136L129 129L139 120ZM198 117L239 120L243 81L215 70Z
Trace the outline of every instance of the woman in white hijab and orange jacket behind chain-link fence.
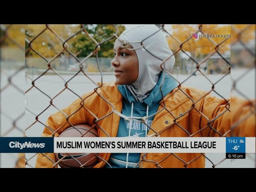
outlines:
M92 126L96 121L100 137L230 136L230 100L190 87L177 87L176 80L162 70L172 68L175 60L159 28L144 25L124 31L114 44L114 54L111 64L116 82L98 83L96 92L82 96L84 102L79 98L63 109L71 124ZM130 116L131 120L127 118ZM61 112L52 114L46 125L54 132L46 127L43 136L58 136L70 126ZM46 156L55 160L54 154L38 154L36 167L52 167L53 162ZM99 156L102 160L95 168L205 166L200 153Z

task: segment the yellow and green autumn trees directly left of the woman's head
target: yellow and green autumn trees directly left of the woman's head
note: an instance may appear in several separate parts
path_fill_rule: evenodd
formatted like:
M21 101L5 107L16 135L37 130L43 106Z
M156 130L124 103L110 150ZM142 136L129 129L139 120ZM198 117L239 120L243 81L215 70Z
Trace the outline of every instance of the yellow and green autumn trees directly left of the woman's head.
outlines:
M81 28L80 25L48 25L48 27L58 34L63 40L70 38L66 44L68 50L78 57L86 57L95 50L96 43L84 32L78 32ZM118 28L118 36L124 31L125 27L122 25L116 25ZM112 25L84 25L85 30L92 36L98 43L113 37L116 33L116 29ZM56 36L51 30L46 28L46 25L26 25L26 38L30 41L36 37L32 42L32 48L39 52L46 58L52 58L63 50L63 41ZM76 34L76 35L75 35ZM113 46L116 38L113 38L100 45L98 51L99 57L113 57ZM26 50L28 50L28 42L26 42ZM68 56L68 52L64 52L65 56ZM34 51L27 52L26 57L39 57ZM93 55L95 57L95 54Z

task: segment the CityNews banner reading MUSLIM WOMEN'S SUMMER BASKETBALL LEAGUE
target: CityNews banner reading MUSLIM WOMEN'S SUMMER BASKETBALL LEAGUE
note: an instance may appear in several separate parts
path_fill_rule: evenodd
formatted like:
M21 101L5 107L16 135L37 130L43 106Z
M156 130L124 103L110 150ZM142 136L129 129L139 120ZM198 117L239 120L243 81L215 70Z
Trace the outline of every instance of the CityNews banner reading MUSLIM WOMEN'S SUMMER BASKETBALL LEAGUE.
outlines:
M2 137L1 153L226 153L246 158L255 137Z

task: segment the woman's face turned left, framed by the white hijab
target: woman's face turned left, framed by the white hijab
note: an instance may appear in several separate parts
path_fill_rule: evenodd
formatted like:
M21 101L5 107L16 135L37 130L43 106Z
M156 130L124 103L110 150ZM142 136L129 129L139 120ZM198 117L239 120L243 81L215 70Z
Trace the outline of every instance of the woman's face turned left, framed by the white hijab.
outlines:
M136 52L121 48L122 42L117 41L114 45L115 57L111 61L114 66L116 83L119 85L132 84L138 78L139 63ZM130 46L132 48L132 46Z

